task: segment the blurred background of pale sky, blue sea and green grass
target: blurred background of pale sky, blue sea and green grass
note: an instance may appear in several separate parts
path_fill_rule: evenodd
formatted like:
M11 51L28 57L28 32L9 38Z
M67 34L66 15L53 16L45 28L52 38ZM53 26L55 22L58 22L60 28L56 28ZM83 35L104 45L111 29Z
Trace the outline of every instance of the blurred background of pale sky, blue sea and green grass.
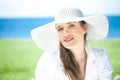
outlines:
M85 16L103 14L109 20L104 40L91 45L104 48L120 74L120 0L0 0L0 80L31 80L44 52L30 31L54 20L62 7L80 8Z

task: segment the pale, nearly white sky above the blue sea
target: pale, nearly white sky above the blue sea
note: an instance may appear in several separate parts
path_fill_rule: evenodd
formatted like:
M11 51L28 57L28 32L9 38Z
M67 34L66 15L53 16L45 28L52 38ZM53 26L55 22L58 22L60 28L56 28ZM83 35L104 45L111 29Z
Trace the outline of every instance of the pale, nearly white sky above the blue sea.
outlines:
M0 0L0 17L54 16L62 7L77 7L84 15L120 15L120 0Z

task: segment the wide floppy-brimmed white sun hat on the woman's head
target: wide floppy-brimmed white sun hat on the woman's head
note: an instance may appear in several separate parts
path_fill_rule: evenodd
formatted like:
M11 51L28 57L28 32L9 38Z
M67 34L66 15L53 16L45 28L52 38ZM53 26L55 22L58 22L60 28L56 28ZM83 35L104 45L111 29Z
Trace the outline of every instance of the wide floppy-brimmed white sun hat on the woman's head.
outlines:
M91 42L105 38L108 33L108 20L104 15L84 17L78 8L60 9L55 20L31 31L33 41L43 50L59 46L59 39L55 29L56 23L85 21L88 24L86 40Z

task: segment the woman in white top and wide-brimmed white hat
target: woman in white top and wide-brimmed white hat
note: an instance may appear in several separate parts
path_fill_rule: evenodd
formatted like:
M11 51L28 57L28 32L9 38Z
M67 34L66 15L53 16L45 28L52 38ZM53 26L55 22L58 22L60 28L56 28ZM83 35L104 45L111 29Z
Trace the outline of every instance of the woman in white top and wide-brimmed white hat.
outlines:
M77 8L61 9L55 21L31 31L33 40L45 50L35 80L111 80L106 52L88 45L107 33L105 16L83 17Z

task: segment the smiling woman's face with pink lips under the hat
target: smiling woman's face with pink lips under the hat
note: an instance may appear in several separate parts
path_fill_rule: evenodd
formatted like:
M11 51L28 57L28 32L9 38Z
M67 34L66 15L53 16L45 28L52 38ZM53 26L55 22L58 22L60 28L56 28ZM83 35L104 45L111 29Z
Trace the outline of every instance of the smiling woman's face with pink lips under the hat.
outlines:
M55 25L58 37L63 46L67 49L84 42L84 34L87 32L86 26L81 26L79 22L60 23Z

